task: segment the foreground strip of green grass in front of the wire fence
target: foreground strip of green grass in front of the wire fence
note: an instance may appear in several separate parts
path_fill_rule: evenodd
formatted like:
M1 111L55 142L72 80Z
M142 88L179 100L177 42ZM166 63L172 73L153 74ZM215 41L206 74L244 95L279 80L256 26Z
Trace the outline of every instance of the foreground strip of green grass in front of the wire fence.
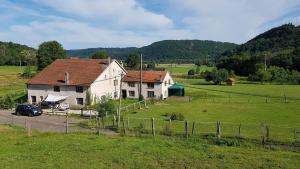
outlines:
M207 140L33 133L0 125L0 168L298 168L300 154Z

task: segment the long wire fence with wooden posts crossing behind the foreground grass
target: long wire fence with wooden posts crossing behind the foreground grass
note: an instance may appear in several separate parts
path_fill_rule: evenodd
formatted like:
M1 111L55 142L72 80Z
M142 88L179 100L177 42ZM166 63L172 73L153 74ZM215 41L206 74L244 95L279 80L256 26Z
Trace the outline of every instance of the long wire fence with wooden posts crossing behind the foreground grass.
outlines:
M121 117L115 114L100 116L47 116L23 117L14 114L1 116L0 124L24 127L28 135L34 130L63 133L89 132L111 135L149 135L169 137L217 137L239 138L261 142L261 144L293 144L300 147L300 127L268 124L244 124L228 122L190 122L166 118Z

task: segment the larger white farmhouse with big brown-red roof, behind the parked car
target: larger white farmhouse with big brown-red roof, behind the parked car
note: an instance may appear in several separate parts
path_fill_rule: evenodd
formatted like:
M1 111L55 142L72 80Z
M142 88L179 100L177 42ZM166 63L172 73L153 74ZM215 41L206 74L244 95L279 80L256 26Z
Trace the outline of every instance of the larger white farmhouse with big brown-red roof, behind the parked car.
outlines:
M110 95L119 98L121 74L126 70L110 59L57 59L27 82L28 102L62 100L70 106L92 98Z

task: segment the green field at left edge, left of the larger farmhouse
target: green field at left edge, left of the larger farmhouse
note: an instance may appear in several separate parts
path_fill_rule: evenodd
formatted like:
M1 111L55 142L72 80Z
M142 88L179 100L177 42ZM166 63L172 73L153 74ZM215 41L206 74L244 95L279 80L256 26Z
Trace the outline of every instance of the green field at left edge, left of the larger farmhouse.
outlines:
M0 66L0 96L5 94L24 93L28 79L20 77L25 67Z

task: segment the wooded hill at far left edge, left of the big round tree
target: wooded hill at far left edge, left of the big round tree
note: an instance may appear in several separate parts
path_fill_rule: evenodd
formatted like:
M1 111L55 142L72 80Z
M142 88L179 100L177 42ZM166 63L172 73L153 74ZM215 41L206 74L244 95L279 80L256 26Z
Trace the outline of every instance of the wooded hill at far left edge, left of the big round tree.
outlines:
M18 65L19 53L22 50L35 50L26 45L12 42L0 42L0 65Z

